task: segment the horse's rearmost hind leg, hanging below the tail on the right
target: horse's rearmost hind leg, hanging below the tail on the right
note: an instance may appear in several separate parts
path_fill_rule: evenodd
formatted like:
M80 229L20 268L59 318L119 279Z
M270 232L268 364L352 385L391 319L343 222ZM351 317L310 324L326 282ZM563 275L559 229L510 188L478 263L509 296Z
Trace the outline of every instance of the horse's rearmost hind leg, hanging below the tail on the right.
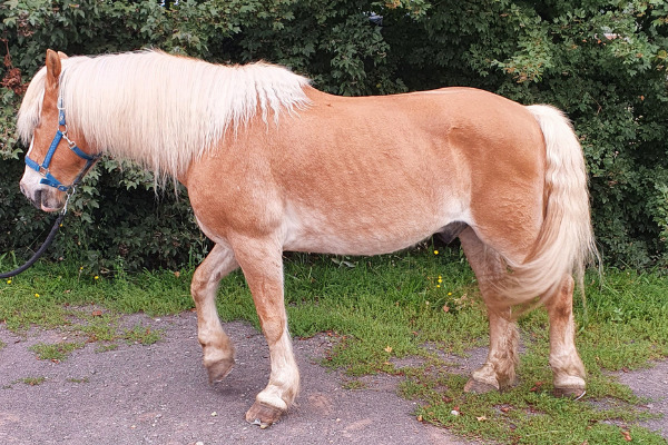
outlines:
M550 317L550 366L554 393L580 397L584 394L584 366L574 343L573 278L564 276L559 291L546 300Z

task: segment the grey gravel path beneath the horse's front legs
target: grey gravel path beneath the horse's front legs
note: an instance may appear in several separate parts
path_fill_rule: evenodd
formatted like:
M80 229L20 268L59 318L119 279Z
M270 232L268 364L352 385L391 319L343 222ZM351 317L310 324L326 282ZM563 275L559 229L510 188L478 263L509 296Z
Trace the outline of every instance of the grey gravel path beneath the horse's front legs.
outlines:
M416 422L414 404L396 396L396 380L373 377L365 389L344 389L344 377L317 365L327 336L295 340L302 393L282 422L261 431L244 421L268 379L264 337L244 323L225 325L237 349L227 378L210 386L202 365L194 314L141 323L165 329L150 346L95 344L55 364L28 347L62 334L27 338L0 325L0 444L466 444ZM136 320L130 323L130 326ZM45 376L37 386L17 380Z

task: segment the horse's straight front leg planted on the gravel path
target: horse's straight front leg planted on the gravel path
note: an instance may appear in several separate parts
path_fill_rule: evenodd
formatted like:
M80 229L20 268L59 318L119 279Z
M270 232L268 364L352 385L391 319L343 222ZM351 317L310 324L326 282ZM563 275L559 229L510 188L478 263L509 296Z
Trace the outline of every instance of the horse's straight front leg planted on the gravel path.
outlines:
M273 239L249 237L235 239L233 248L269 346L269 383L246 413L247 422L264 428L281 418L299 389L299 370L292 350L283 299L283 249Z

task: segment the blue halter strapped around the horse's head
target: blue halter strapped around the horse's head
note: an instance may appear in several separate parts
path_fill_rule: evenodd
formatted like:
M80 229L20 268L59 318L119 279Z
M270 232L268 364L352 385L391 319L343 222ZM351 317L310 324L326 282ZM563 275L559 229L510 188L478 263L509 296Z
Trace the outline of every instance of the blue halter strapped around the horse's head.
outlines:
M62 129L62 130L61 130ZM62 185L51 172L49 171L49 165L51 164L51 158L60 144L60 140L63 139L67 141L69 149L72 150L75 155L79 158L86 160L86 166L79 171L79 175L75 178L72 184L69 186ZM40 174L42 179L40 179L39 184L46 184L47 186L53 187L60 191L68 191L71 188L76 187L84 175L90 170L90 167L100 158L100 155L90 156L77 147L77 144L72 141L67 136L67 125L65 123L65 107L62 106L62 96L58 97L58 130L56 131L56 136L53 136L53 140L51 141L51 146L49 147L49 151L47 151L47 156L41 165L37 164L37 161L30 159L28 155L26 155L26 165Z

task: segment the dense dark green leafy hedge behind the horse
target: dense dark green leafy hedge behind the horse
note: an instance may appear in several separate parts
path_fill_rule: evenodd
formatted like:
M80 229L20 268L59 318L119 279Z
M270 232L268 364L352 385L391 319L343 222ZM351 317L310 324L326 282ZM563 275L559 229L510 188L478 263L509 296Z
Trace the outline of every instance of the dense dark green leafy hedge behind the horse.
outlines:
M41 1L0 4L0 251L33 247L50 217L18 191L21 81L47 48L146 47L213 62L265 59L337 95L472 86L568 112L586 151L606 263L665 267L668 236L668 3L665 0ZM379 20L382 22L379 23ZM12 70L13 68L13 70ZM18 71L17 71L18 70ZM20 75L17 76L17 73ZM53 248L95 267L176 268L209 247L187 194L106 159ZM448 171L443 171L448 175Z

